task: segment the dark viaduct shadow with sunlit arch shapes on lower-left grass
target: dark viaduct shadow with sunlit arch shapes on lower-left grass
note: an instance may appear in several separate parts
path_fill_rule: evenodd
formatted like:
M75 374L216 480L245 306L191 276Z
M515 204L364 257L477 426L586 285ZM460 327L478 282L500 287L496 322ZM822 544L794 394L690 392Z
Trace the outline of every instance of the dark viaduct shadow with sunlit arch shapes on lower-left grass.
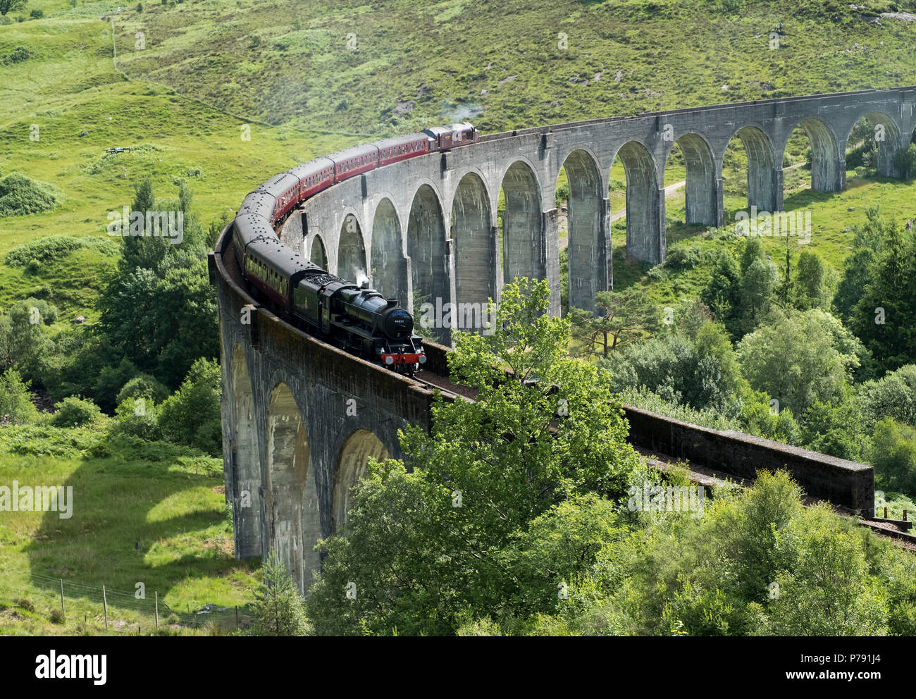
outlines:
M222 477L91 459L63 486L73 488L71 519L46 513L25 547L36 588L59 590L48 577L131 593L143 583L147 601L156 591L161 604L176 584L198 596L219 594L218 579L259 564L234 559Z

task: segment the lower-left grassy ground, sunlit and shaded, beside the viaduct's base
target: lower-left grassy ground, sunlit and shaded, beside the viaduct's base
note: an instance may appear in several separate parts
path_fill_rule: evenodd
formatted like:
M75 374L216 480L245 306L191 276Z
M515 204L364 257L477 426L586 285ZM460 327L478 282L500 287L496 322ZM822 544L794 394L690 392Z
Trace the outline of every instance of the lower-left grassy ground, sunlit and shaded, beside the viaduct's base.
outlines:
M0 607L25 597L38 614L28 617L20 610L16 618L5 610L0 634L104 630L99 599L71 599L69 593L68 623L50 624L50 610L60 607L60 589L33 574L63 578L68 590L71 583L93 585L96 597L102 584L129 592L142 582L148 600L158 591L163 618L165 605L184 612L189 606L251 601L255 577L250 566L233 558L221 478L195 475L189 464L168 459L17 455L8 451L15 440L15 430L0 429L0 483L72 486L73 516L0 514ZM109 597L109 617L151 626L150 617L119 604L116 594Z

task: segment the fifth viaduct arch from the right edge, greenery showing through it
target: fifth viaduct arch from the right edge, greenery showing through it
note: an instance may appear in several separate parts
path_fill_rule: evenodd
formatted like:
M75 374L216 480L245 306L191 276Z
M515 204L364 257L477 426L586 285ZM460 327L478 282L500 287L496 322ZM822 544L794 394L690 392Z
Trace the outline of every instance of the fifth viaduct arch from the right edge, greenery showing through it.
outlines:
M655 160L638 141L617 151L627 173L627 255L658 265L665 258Z

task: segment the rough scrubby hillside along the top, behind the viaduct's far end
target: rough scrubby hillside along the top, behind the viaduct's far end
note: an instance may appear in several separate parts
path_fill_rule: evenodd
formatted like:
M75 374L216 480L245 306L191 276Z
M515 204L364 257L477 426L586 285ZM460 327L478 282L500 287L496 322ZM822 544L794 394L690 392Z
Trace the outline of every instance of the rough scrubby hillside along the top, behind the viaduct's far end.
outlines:
M842 7L832 22L821 4L785 1L720 16L703 0L187 0L122 13L118 49L128 74L225 109L373 135L478 112L492 131L916 83L916 27ZM772 50L779 20L787 36Z

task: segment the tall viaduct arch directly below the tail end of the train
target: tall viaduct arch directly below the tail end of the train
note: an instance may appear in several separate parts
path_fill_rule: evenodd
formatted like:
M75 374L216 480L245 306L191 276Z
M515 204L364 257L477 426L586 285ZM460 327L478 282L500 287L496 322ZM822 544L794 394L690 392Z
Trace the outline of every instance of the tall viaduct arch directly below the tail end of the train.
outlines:
M465 174L455 190L451 237L458 327L480 330L486 301L496 298L496 228L484 180L474 172ZM466 311L474 308L480 310L476 316Z

